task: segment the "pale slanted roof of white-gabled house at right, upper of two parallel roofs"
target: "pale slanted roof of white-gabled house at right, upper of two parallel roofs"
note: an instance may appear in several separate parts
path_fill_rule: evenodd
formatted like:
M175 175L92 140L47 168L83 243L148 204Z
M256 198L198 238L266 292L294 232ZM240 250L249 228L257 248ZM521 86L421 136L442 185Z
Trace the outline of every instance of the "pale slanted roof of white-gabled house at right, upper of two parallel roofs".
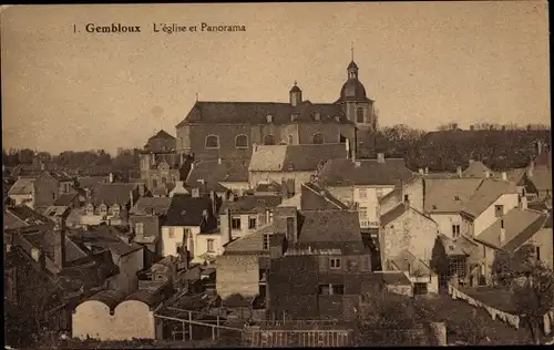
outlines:
M485 178L481 182L470 199L464 203L463 212L473 217L478 217L500 196L515 193L515 184L512 182Z

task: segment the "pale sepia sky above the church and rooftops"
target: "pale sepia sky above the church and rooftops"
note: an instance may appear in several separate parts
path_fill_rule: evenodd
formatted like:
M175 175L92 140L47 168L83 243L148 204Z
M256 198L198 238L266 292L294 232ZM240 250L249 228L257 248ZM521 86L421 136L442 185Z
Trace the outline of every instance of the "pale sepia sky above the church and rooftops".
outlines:
M142 147L160 128L175 135L196 96L288 102L295 81L305 99L332 103L352 44L380 126L551 123L546 1L12 6L0 16L4 148ZM88 23L141 32L88 33Z

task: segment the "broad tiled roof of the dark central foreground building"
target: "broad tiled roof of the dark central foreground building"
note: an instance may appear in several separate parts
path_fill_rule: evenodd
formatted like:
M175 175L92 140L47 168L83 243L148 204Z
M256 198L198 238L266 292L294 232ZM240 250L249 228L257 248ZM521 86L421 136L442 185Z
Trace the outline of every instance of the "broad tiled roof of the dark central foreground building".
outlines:
M361 241L360 220L357 212L300 210L298 241Z

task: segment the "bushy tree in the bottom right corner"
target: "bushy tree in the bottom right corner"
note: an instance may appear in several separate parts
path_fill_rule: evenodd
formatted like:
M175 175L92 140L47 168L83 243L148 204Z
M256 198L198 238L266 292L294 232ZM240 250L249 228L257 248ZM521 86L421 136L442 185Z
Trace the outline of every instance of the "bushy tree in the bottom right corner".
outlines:
M523 245L513 254L499 253L493 261L493 279L509 287L520 319L526 323L533 343L540 343L540 325L554 307L554 272L535 258L534 246Z

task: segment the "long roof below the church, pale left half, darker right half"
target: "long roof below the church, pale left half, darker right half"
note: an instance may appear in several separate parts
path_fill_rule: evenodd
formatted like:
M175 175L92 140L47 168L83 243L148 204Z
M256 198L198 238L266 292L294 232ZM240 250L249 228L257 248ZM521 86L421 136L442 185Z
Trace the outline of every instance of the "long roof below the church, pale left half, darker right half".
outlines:
M252 155L250 172L314 172L329 159L346 158L342 143L260 145Z

